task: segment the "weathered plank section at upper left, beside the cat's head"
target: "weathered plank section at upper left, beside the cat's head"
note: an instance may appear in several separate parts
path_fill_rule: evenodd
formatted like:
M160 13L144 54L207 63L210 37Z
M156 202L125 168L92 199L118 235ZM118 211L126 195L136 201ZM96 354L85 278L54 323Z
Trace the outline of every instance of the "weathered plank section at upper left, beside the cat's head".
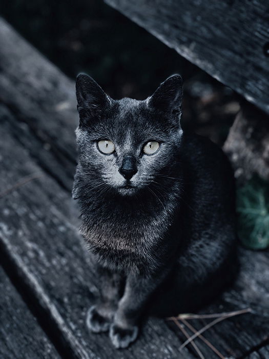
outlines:
M15 44L15 45L14 45ZM17 138L45 171L71 188L78 124L75 83L0 17L0 102L20 122ZM52 161L52 157L54 161Z

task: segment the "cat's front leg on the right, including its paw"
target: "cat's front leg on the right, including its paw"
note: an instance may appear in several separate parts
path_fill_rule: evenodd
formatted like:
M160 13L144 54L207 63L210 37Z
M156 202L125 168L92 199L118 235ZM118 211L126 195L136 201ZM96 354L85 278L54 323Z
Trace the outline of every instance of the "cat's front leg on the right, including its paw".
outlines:
M162 276L129 275L125 292L110 327L110 338L116 348L126 348L136 340L138 320L150 295Z

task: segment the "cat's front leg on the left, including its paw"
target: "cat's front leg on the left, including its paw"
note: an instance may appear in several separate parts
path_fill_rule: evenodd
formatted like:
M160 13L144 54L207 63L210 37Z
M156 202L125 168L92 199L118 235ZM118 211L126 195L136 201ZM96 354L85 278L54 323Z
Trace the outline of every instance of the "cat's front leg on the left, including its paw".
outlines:
M87 315L87 326L94 333L106 332L113 321L123 277L107 268L98 265L100 296L96 305L92 306Z

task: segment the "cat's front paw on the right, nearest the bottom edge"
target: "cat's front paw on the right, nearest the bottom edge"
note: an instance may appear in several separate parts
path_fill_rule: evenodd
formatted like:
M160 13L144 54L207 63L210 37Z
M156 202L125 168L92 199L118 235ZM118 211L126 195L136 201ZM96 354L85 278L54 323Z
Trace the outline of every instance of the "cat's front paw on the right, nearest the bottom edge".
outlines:
M115 348L127 348L130 343L137 338L138 327L121 328L116 324L112 324L109 330L109 336Z

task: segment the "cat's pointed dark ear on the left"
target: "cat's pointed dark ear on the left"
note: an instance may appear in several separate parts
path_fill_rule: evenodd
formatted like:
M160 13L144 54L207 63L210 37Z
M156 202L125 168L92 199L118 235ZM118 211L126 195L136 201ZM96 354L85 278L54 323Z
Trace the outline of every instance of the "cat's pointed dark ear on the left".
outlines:
M76 79L77 110L80 122L99 118L111 104L109 96L90 76L80 74Z

